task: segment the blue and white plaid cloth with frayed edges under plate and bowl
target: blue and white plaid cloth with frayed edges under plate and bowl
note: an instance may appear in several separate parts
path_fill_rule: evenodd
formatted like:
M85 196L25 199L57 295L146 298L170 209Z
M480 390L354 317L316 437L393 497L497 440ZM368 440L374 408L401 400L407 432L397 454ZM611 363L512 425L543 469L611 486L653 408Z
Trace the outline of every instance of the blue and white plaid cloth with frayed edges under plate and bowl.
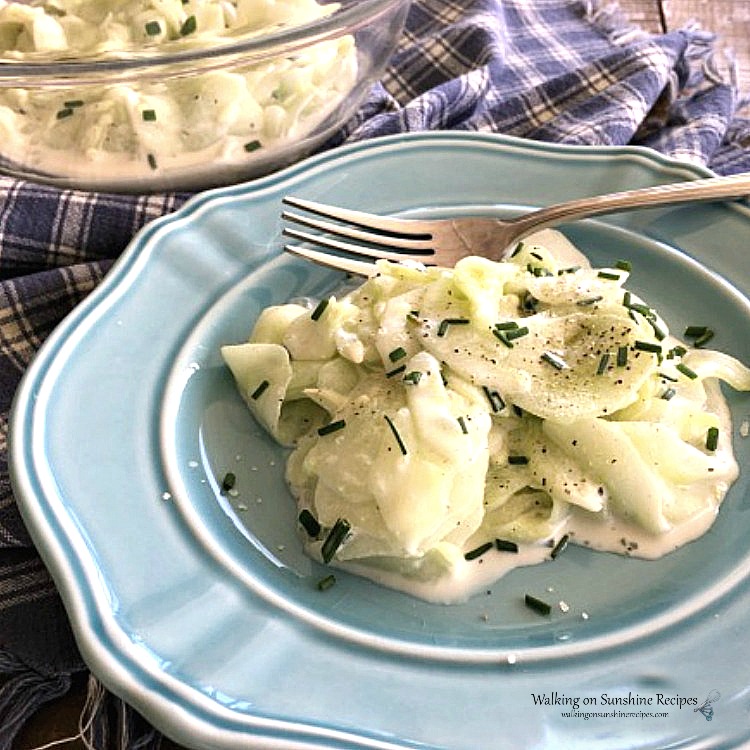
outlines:
M738 114L732 66L720 70L721 58L699 29L650 36L593 0L415 0L383 80L325 148L405 131L483 130L638 144L719 173L746 171L750 121ZM86 674L9 486L11 399L52 328L140 227L187 196L7 178L0 196L0 750L8 750L36 707ZM106 693L92 704L93 746L156 747L158 733L114 704Z

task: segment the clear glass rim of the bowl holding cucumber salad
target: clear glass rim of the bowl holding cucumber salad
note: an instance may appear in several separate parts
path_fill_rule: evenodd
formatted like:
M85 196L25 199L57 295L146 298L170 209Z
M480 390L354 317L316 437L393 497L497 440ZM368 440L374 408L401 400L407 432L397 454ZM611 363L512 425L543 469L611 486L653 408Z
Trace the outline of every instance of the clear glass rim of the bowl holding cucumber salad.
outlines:
M253 36L227 44L195 47L177 51L160 48L127 50L118 56L79 59L0 62L0 87L12 85L71 86L101 82L101 76L117 74L121 78L156 77L195 70L209 70L237 64L252 64L288 55L312 44L350 34L362 26L395 13L410 0L350 0L325 18L312 23L280 29L271 34ZM165 45L168 46L168 45Z

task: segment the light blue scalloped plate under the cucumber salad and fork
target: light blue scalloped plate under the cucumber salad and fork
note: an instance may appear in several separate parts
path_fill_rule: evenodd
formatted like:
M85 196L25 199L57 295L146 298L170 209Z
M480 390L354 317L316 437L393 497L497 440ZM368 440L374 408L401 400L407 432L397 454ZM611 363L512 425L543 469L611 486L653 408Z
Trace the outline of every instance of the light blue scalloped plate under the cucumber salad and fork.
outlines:
M712 529L648 562L568 548L465 604L427 604L300 549L285 455L219 347L341 283L281 253L285 194L380 213L506 214L708 174L635 148L434 133L342 148L153 222L20 388L12 471L91 669L211 748L739 747L750 740L750 440ZM566 228L676 332L750 362L750 212L649 209ZM227 472L237 492L222 493ZM553 605L542 617L532 593ZM706 700L711 700L707 703ZM711 719L709 721L709 719Z

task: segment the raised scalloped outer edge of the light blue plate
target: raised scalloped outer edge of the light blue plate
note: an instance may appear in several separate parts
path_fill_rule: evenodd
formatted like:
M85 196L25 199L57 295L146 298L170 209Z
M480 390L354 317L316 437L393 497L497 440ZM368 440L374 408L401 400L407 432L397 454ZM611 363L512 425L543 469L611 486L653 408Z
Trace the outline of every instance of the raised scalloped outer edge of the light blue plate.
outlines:
M34 483L31 479L33 472L29 471L32 467L26 463L26 456L23 450L25 439L27 438L27 418L31 409L33 409L34 392L39 383L46 377L50 364L54 360L60 346L75 328L85 320L93 311L97 310L100 305L106 307L111 295L118 290L118 287L127 280L132 274L138 272L140 267L146 263L151 247L158 239L159 233L175 221L188 220L194 213L200 211L203 206L213 201L222 201L240 196L253 196L261 193L274 192L284 185L293 183L296 178L310 176L316 170L326 169L331 163L339 160L345 160L356 156L361 152L368 151L372 147L394 147L394 146L419 146L422 144L434 144L447 146L451 143L466 146L469 143L476 145L487 144L492 146L505 146L511 150L522 149L527 152L544 154L569 154L577 159L600 159L604 156L629 157L642 160L652 166L657 167L659 171L666 171L675 178L692 178L711 176L708 169L696 165L682 163L659 154L646 148L638 147L583 147L583 146L558 146L555 144L545 144L539 142L525 141L523 139L512 138L507 136L476 134L476 133L427 133L427 134L407 134L400 136L391 136L377 139L361 144L345 146L338 150L328 152L317 157L313 157L305 162L290 167L275 175L263 178L253 183L246 183L228 188L219 188L207 193L193 197L181 209L161 217L151 222L147 227L142 229L132 240L129 247L122 254L120 259L115 263L110 273L107 275L102 284L84 300L66 319L58 326L53 334L48 338L40 349L33 363L27 370L21 385L16 394L10 421L10 444L9 459L11 479L14 489L21 497L25 493L34 490ZM109 684L119 686L117 692L126 694L134 703L140 705L148 704L150 706L149 714L162 718L162 724L168 723L165 718L175 709L173 699L184 700L183 709L188 708L187 715L182 714L181 720L189 720L190 726L186 734L185 726L180 723L179 732L177 725L173 725L174 733L189 737L191 732L201 730L205 737L211 736L219 739L216 735L216 721L221 721L221 717L214 712L202 711L199 706L192 705L190 696L180 696L179 686L175 690L173 699L168 698L158 690L154 693L153 688L146 688L147 694L144 695L144 688L138 684L138 678L135 676L137 665L130 663L125 654L120 654L119 660L114 658L113 653L105 644L97 641L97 630L107 633L111 630L107 626L108 613L100 611L97 602L92 601L91 597L78 589L76 583L77 561L71 557L71 550L67 550L63 540L56 539L56 544L50 544L49 539L40 538L41 527L38 524L44 524L46 519L40 509L29 507L28 504L20 504L22 514L29 526L30 532L36 541L40 544L40 553L50 568L60 589L63 601L68 614L74 626L74 630L81 647L86 656L86 660L96 665L94 671L100 674L106 674ZM97 623L97 626L94 625ZM117 638L113 638L116 642ZM135 667L135 669L133 669ZM125 687L123 687L125 686ZM151 692L149 692L151 691ZM227 712L225 717L228 723L236 717ZM251 723L252 724L252 723ZM348 736L346 733L331 731L330 735L315 736L315 733L307 732L305 727L300 725L289 724L286 727L272 726L272 723L265 724L260 722L257 726L245 726L237 733L235 729L226 727L222 728L223 739L229 744L227 747L234 746L232 743L238 740L247 741L244 731L252 729L254 731L267 732L262 745L264 748L271 747L301 747L299 744L300 732L305 736L308 744L305 746L321 746L319 740L330 746L350 746L352 747L405 747L404 743L391 744L382 742L378 739L367 739L364 736ZM281 732L281 735L277 734ZM200 733L200 732L199 732ZM224 734L226 733L226 734ZM344 744L339 744L343 742ZM222 743L222 747L224 744Z

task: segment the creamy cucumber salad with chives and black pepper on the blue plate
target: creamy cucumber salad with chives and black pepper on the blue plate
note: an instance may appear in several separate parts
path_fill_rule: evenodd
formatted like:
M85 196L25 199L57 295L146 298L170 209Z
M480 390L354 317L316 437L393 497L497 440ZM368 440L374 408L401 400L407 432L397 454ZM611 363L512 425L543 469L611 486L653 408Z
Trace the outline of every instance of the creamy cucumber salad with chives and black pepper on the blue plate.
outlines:
M750 370L673 337L626 283L545 231L504 262L380 261L222 348L315 559L437 601L567 543L646 558L697 538L738 474L719 381Z

